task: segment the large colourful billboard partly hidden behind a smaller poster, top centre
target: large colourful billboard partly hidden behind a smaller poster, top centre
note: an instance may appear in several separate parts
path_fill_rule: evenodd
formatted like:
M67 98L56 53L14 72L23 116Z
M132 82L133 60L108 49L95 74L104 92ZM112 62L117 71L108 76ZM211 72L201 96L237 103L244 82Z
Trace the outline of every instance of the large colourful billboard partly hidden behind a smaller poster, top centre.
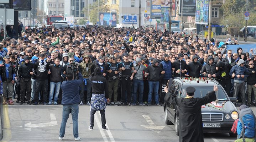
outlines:
M150 17L152 19L161 18L161 7L170 7L172 2L172 17L176 17L176 0L151 0Z

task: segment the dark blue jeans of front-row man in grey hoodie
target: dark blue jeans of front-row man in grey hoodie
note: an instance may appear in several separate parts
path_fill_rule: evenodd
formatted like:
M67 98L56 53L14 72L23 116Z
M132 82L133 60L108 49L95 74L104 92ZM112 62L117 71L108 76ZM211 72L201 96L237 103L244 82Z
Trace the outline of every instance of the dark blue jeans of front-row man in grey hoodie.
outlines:
M133 79L133 103L136 103L137 101L137 90L139 88L139 103L142 103L143 100L143 91L144 91L144 82L143 80L137 80L137 79Z

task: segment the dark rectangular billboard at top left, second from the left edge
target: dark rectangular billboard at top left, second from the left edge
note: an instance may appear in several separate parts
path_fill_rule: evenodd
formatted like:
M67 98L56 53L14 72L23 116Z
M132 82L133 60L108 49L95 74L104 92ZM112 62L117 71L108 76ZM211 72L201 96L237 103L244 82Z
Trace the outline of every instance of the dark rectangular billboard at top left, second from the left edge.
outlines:
M31 0L13 0L12 8L16 11L30 11Z

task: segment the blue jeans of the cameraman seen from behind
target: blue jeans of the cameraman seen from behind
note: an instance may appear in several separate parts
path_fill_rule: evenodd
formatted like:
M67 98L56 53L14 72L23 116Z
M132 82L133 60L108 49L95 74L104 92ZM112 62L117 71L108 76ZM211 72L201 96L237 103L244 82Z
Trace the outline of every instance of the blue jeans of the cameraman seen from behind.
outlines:
M59 130L59 136L64 137L65 135L66 123L67 123L70 112L72 114L72 120L73 120L73 135L74 135L74 138L77 138L78 137L78 121L77 120L78 120L78 112L79 112L78 103L71 104L71 105L63 105L61 129Z

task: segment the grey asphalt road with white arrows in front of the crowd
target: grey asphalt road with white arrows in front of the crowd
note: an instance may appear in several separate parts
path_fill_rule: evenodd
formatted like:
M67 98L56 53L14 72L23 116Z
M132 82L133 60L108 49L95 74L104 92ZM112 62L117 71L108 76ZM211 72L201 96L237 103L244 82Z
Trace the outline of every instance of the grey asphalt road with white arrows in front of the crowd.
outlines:
M253 108L256 110L255 108ZM174 125L164 123L163 107L107 106L109 130L101 130L100 114L95 114L94 130L90 125L90 106L79 106L79 136L87 142L177 142ZM59 141L62 105L1 105L2 142ZM74 141L72 116L66 125L63 141ZM233 142L228 133L204 133L205 142Z

